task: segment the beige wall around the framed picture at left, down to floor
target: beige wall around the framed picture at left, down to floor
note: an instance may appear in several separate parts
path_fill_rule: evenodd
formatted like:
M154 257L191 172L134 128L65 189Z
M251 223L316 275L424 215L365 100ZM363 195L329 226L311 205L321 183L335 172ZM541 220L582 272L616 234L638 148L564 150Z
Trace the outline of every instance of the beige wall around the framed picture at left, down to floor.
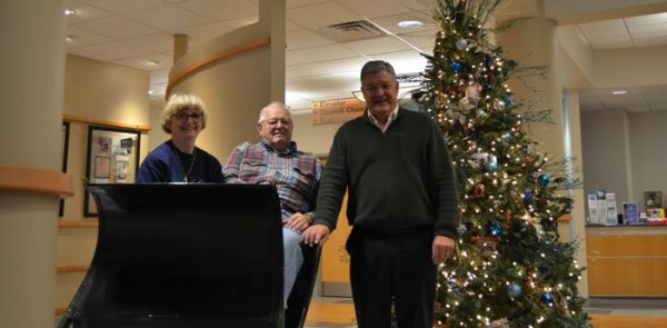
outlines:
M66 116L103 120L123 125L149 125L149 72L67 56L64 76ZM97 218L83 217L83 183L88 123L71 122L68 172L72 176L74 196L64 201L61 223L91 223ZM148 152L148 136L141 136L140 159ZM59 227L56 266L87 267L97 243L96 227ZM84 271L59 272L56 277L56 308L67 308L81 284Z

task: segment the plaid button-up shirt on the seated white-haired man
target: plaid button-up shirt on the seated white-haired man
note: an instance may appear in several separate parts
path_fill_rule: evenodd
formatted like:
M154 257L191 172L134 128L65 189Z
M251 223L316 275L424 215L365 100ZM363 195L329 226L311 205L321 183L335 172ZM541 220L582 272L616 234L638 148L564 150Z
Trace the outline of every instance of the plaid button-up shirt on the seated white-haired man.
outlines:
M275 185L280 198L282 221L293 213L313 216L322 163L312 155L297 150L293 141L278 152L266 140L239 145L222 168L225 182Z

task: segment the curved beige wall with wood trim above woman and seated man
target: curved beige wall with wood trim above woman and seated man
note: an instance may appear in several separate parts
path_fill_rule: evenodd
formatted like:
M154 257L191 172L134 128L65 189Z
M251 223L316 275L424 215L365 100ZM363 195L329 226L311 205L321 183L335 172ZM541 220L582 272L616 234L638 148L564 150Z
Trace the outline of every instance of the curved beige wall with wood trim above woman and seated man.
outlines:
M233 30L181 57L170 80L188 67L218 53L269 39L270 43L215 61L173 86L172 91L193 92L207 103L209 120L197 145L225 162L245 141L259 141L259 110L271 101L285 101L285 0L260 0L259 21Z

